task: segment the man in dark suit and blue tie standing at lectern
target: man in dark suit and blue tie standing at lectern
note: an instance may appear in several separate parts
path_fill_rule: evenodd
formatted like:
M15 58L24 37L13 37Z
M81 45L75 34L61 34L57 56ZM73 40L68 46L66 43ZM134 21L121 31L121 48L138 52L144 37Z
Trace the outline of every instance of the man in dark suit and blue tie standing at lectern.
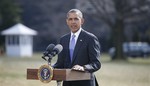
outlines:
M94 72L101 68L99 41L95 35L82 29L84 19L80 10L71 9L66 22L71 33L61 37L63 50L53 67L91 73L91 80L64 81L63 86L98 86Z

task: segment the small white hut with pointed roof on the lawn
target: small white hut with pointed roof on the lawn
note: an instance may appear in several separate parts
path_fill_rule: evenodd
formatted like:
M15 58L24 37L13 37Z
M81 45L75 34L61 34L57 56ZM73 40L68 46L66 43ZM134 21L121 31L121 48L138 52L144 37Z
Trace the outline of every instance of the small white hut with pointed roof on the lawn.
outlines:
M5 35L6 54L9 57L31 57L33 54L33 35L37 32L18 23L1 33Z

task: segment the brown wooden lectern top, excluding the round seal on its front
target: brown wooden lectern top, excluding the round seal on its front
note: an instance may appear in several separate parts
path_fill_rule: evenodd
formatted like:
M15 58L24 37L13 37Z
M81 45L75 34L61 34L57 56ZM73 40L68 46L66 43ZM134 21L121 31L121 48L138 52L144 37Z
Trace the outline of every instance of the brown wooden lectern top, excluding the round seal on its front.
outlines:
M27 69L27 79L39 80L38 69ZM80 72L71 69L54 69L52 80L75 81L90 80L91 74L88 72Z

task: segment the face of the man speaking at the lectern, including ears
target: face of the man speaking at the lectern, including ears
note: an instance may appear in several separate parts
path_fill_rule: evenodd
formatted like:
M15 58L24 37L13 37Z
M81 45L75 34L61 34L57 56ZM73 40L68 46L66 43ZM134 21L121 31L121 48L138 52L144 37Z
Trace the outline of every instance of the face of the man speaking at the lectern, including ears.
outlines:
M80 18L77 13L69 13L68 18L66 19L67 25L69 26L70 30L75 33L77 32L81 25L84 22L83 18Z

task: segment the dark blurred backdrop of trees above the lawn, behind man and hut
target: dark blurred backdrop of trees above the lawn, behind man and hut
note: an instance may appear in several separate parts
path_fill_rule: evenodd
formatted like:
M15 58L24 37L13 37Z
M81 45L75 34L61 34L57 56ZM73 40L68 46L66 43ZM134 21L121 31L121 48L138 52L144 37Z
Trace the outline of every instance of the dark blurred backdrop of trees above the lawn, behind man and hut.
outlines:
M98 37L102 52L116 47L116 57L124 57L123 42L150 43L150 0L1 0L0 31L23 23L38 32L34 52L43 51L69 32L65 19L72 8L83 12L83 28ZM4 36L0 38L5 50Z

